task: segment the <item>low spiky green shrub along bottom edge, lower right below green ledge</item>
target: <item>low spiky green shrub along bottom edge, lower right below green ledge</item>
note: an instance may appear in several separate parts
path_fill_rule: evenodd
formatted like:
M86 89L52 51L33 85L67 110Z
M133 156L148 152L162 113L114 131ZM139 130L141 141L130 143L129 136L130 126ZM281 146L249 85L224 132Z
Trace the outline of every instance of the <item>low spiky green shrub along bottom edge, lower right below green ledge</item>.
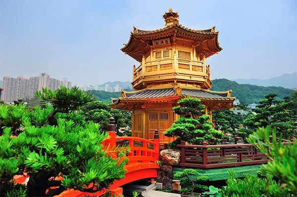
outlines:
M220 190L223 197L290 197L287 191L273 180L272 175L258 178L246 174L244 179L236 179L236 173L229 171L229 176L228 186Z

